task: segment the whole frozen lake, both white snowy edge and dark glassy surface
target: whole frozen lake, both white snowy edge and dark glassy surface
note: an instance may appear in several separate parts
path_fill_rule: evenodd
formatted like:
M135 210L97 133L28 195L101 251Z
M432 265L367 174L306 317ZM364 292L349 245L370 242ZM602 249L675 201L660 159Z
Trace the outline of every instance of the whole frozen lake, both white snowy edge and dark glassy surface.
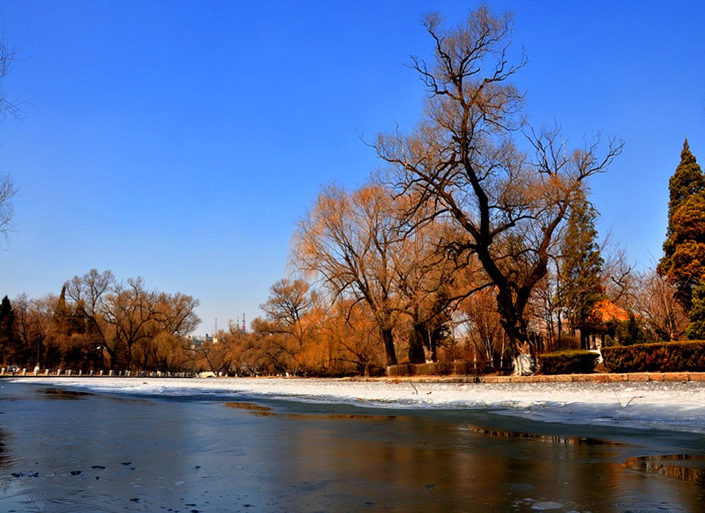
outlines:
M0 386L1 511L704 509L701 383Z

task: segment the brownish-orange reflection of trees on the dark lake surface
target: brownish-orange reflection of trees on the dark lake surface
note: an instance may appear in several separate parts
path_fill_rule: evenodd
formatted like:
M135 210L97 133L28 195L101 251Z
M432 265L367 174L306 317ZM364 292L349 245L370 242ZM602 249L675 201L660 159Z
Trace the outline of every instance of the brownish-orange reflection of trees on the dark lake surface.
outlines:
M326 419L331 417L318 417ZM474 501L510 511L513 501L532 496L559 501L568 510L602 500L606 489L623 490L613 463L620 449L589 438L472 431L403 415L370 416L343 428L345 435L325 422L307 422L290 433L296 434L286 444L287 478L298 483L301 505L315 494L345 490L348 500L359 494L382 510L439 513Z

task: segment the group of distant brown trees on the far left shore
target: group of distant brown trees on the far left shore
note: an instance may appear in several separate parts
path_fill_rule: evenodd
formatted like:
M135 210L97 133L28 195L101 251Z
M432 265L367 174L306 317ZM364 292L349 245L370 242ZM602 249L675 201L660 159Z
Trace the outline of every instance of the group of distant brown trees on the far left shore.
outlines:
M180 371L198 301L92 269L61 293L0 304L0 362L20 368Z

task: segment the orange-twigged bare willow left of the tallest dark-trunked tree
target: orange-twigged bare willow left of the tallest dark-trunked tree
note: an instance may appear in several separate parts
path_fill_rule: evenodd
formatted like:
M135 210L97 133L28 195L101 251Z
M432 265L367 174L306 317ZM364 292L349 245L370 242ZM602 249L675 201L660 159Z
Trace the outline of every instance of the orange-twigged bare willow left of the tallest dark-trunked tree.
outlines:
M390 191L365 185L352 193L323 190L294 235L293 260L318 276L333 303L364 302L379 327L387 365L396 365L393 329L399 318L394 255L400 235Z

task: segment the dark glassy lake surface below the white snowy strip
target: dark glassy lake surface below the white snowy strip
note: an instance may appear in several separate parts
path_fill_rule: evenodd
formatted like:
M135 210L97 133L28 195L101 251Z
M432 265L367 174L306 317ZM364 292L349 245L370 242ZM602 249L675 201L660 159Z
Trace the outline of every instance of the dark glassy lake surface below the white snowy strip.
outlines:
M620 466L701 454L689 433L225 394L135 399L13 384L3 393L16 399L1 403L4 510L616 513L703 504L700 483Z

